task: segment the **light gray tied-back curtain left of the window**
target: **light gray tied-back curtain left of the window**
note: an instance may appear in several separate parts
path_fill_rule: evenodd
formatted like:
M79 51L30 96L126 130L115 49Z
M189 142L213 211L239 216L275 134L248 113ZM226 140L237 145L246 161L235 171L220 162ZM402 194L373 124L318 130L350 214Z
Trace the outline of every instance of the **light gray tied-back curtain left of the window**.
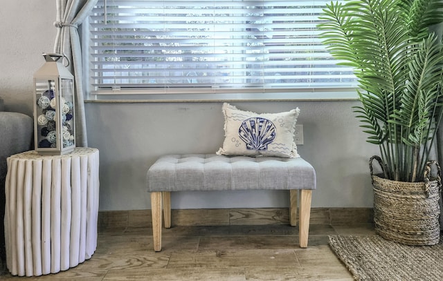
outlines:
M82 48L78 26L89 15L97 0L56 0L58 28L54 52L66 55L75 84L75 146L88 146L86 119L84 114Z

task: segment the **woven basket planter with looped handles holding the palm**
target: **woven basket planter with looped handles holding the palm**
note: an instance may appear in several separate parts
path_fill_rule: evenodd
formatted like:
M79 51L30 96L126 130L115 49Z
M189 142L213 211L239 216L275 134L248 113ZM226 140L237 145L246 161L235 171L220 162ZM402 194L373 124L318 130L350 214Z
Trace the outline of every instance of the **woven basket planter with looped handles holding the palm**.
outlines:
M397 182L373 175L375 231L387 240L407 245L434 245L440 241L440 166L426 165L424 182ZM431 164L437 178L431 179Z

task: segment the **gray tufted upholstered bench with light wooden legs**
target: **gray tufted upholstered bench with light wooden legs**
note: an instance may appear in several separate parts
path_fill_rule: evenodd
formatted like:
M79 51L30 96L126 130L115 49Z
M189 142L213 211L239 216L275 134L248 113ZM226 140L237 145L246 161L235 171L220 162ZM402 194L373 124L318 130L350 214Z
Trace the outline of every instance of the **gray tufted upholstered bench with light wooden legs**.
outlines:
M215 154L165 155L147 171L151 192L154 251L161 251L162 200L165 227L171 226L171 191L289 190L289 220L296 225L300 191L300 247L307 247L311 192L316 188L314 168L304 159L224 156Z

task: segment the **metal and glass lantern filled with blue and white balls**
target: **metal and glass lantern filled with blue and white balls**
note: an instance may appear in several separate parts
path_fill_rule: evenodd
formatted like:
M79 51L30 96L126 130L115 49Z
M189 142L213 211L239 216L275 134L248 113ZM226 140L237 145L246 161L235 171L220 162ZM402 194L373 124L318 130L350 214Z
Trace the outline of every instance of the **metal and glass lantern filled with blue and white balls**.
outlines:
M62 155L75 148L74 77L62 64L64 55L43 54L46 63L35 72L35 151Z

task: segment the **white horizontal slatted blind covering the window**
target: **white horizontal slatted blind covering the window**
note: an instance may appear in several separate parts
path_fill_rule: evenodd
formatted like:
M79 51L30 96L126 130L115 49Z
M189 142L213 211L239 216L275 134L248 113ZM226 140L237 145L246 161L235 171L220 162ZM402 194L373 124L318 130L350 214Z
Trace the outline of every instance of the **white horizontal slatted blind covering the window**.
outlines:
M107 0L90 23L94 89L289 92L355 86L320 39L330 0Z

